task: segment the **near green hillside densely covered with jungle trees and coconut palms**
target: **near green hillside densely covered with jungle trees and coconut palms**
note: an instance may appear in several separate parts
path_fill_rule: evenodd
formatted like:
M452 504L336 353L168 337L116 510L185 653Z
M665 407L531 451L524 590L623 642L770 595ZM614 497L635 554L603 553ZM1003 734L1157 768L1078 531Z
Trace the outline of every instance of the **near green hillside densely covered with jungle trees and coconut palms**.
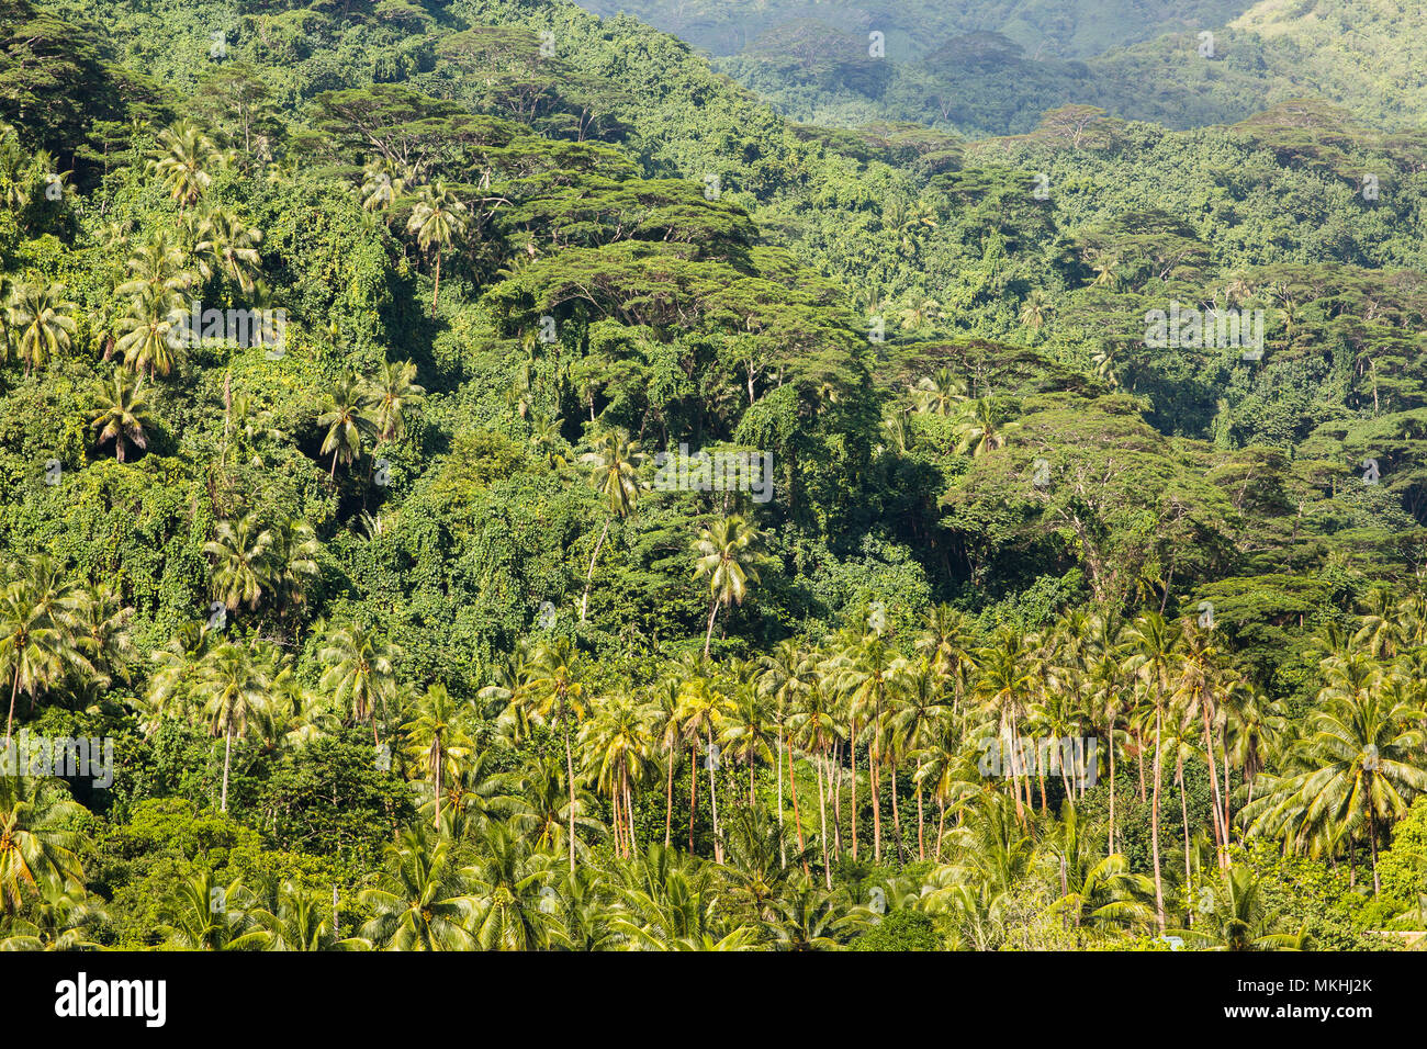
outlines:
M1294 64L0 0L0 946L1418 943L1427 133Z

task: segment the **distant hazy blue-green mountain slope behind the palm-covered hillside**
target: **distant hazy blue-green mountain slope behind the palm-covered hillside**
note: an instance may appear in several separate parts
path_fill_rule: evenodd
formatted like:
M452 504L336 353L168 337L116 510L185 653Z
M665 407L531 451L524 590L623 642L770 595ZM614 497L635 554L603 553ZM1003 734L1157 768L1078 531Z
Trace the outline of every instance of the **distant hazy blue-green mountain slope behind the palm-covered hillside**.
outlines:
M586 0L715 56L798 120L1025 133L1063 103L1187 128L1301 96L1391 127L1427 111L1410 0Z

